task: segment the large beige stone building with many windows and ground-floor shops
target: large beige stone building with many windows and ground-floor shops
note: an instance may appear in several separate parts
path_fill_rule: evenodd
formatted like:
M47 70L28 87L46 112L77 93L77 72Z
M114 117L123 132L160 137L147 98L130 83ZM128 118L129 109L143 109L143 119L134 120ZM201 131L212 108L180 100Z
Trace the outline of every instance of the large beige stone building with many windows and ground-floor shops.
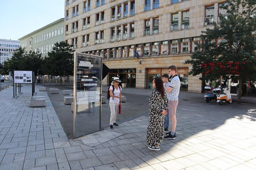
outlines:
M119 75L126 87L153 88L154 77L178 67L181 90L201 93L203 82L185 65L204 43L201 31L218 23L224 0L66 0L65 41L78 52L103 56L109 85ZM223 41L222 39L216 42ZM138 53L139 60L135 57Z

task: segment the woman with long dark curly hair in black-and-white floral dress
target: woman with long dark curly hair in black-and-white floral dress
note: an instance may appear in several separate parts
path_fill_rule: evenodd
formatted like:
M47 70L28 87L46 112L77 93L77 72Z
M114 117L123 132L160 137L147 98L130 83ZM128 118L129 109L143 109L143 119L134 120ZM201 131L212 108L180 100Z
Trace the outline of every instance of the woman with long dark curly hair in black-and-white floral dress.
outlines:
M160 143L164 139L164 117L167 114L168 99L163 81L156 77L152 82L154 90L149 98L149 125L146 143L151 150L160 150Z

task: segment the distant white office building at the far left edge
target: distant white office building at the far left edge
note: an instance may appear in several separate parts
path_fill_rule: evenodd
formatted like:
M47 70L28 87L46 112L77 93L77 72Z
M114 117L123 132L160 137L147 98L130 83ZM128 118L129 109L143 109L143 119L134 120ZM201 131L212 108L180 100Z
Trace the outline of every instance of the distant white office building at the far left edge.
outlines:
M12 52L20 47L20 41L0 39L0 63L4 65L4 61L12 57Z

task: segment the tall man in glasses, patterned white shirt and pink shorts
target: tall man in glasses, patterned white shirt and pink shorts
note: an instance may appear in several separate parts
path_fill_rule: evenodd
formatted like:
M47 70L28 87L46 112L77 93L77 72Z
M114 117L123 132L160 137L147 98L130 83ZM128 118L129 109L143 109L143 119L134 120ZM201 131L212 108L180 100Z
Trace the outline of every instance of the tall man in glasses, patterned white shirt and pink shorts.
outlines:
M170 114L170 119L171 119L171 132L166 133L167 136L164 136L165 139L176 139L176 110L177 106L179 103L179 93L180 93L180 79L179 76L177 75L177 67L175 65L171 65L168 67L168 72L169 75L172 76L170 85L168 88L166 88L165 83L164 83L164 89L169 93L169 114Z

